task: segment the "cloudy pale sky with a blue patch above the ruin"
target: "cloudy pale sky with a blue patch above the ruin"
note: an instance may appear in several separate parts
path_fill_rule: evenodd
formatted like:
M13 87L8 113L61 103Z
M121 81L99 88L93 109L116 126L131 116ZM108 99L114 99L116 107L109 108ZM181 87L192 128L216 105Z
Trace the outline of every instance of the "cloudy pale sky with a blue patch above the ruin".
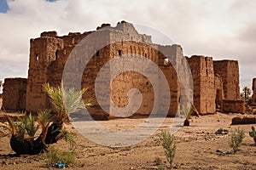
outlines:
M255 8L255 0L0 0L0 80L27 77L29 41L43 31L61 36L125 20L162 32L187 56L237 59L241 88L252 88Z

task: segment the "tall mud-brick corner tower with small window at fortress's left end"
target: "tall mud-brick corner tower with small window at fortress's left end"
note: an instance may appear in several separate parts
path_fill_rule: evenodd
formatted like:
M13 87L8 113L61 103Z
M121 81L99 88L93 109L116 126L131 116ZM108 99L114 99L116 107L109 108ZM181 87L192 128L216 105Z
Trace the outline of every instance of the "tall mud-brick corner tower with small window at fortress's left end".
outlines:
M36 112L49 108L49 99L42 85L44 82L48 82L48 66L51 61L58 57L58 50L61 48L63 48L63 40L59 38L39 37L31 39L26 111Z

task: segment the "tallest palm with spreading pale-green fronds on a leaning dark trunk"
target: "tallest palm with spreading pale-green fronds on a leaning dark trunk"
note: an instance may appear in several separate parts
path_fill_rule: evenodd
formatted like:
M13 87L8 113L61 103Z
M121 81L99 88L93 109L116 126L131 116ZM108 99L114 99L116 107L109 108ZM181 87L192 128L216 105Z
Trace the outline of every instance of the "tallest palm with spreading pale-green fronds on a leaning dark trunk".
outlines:
M45 144L53 144L61 139L61 128L66 121L70 123L69 115L84 106L90 106L92 99L82 99L82 95L88 88L75 91L74 88L65 89L63 82L60 87L51 87L49 83L44 83L44 91L49 95L50 103L54 106L54 123L49 126L49 133L46 134Z

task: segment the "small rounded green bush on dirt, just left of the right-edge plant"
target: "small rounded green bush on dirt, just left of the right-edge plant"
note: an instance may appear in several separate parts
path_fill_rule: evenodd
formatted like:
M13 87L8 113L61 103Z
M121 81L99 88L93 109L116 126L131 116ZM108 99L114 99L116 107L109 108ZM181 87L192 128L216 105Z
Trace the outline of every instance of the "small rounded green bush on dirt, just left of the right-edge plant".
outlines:
M241 146L242 140L245 138L245 133L239 127L235 131L230 131L230 148L236 153L238 148Z

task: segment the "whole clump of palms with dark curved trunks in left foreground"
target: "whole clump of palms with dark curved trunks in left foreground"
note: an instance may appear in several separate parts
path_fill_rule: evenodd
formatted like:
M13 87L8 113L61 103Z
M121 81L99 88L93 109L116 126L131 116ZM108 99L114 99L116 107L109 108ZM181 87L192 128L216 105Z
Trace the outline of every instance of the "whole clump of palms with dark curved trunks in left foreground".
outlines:
M5 114L4 117L8 123L0 122L0 127L9 130L11 134L10 146L17 155L38 154L47 149L49 144L53 144L62 138L73 142L72 135L67 130L63 130L62 125L66 120L70 122L69 114L78 111L84 105L91 105L91 99L83 100L81 97L87 89L79 92L76 92L73 88L66 90L63 88L63 83L61 83L61 87L57 88L52 88L49 83L45 83L44 89L49 94L50 102L54 105L56 114L52 116L52 111L39 111L38 118L30 114L20 118L20 122L17 123ZM36 122L38 122L38 125L36 125ZM42 133L35 136L38 126L41 127ZM0 134L2 136L6 135L2 131L0 131Z

